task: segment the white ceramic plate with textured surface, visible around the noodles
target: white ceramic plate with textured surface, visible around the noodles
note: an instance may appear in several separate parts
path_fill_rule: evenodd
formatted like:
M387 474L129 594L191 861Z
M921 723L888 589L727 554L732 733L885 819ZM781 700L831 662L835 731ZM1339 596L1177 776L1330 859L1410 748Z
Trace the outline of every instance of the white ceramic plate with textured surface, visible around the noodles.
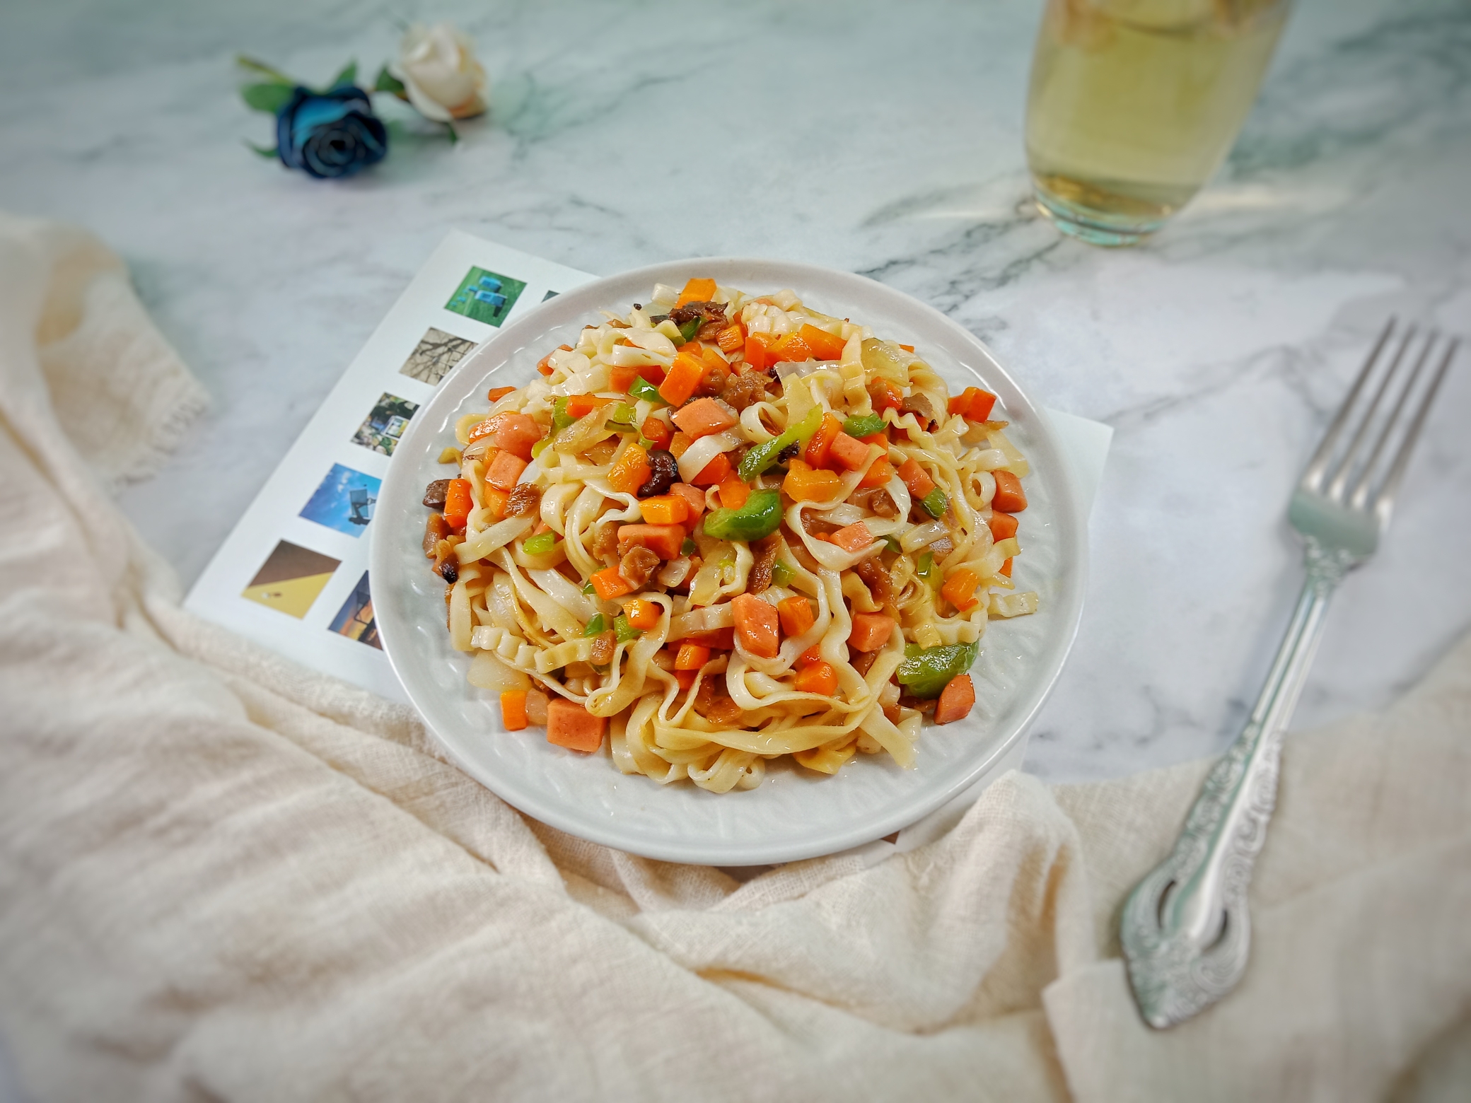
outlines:
M597 754L549 744L540 728L507 732L499 703L472 687L471 656L450 649L444 585L421 541L424 487L444 478L435 462L455 443L457 416L488 406L490 387L524 385L535 363L600 321L646 303L656 282L693 275L724 287L796 290L813 309L852 318L887 340L912 344L952 391L983 384L999 396L1008 435L1031 460L1016 584L1036 590L1040 610L993 621L971 671L977 707L965 721L919 737L918 766L887 754L856 754L837 775L771 763L750 791L706 793L690 782L659 785L622 775L605 740ZM1005 409L1002 409L1005 407ZM1027 394L972 334L937 310L862 276L772 260L700 259L656 265L568 291L469 353L409 424L384 479L372 534L374 613L409 699L466 774L544 824L647 857L741 866L827 854L906 827L971 785L1019 740L1062 669L1083 610L1087 529L1062 449Z

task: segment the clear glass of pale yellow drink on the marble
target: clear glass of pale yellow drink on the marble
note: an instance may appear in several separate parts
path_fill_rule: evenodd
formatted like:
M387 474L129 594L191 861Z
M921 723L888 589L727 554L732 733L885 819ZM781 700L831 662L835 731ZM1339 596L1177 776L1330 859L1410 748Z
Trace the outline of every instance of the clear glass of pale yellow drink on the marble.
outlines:
M1252 109L1289 0L1047 0L1027 163L1058 228L1099 246L1159 229Z

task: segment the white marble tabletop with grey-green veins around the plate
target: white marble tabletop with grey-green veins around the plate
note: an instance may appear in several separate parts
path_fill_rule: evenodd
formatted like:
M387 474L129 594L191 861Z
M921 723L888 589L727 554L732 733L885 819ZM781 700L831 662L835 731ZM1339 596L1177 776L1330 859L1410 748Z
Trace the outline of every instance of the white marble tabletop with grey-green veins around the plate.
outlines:
M1389 312L1471 332L1471 9L1305 0L1215 182L1127 251L1028 204L1037 0L0 7L0 207L118 249L213 397L121 501L187 585L450 228L596 274L691 254L862 272L1115 428L1089 603L1028 769L1103 778L1237 732L1300 582L1290 485ZM254 157L246 50L306 79L452 18L494 110L316 182ZM1471 625L1471 356L1297 725L1392 700Z

